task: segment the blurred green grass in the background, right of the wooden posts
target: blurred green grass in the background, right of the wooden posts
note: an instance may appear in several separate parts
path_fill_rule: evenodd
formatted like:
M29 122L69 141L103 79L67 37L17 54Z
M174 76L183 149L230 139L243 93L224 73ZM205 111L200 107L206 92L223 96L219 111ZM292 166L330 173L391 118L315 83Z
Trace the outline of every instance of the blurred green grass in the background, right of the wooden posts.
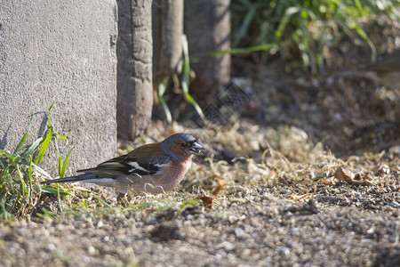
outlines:
M324 67L324 52L342 36L360 37L376 49L361 28L361 19L384 12L398 19L400 1L385 0L232 0L233 46L279 52L303 66ZM265 46L260 46L260 45Z

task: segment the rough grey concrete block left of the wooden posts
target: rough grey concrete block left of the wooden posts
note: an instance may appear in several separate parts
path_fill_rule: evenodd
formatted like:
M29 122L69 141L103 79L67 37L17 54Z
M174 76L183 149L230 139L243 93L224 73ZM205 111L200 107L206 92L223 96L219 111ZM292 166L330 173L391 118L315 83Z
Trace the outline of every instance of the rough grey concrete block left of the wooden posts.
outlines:
M116 36L112 0L3 0L0 149L14 150L32 113L29 141L43 134L45 112L56 101L52 124L69 139L62 151L75 147L67 174L114 157ZM56 160L44 167L57 175Z

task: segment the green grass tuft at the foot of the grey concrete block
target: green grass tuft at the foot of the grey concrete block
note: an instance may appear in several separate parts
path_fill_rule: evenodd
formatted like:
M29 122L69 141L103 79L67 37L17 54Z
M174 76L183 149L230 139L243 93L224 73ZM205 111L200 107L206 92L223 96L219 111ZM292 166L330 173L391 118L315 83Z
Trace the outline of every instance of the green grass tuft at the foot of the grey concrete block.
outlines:
M54 103L52 103L52 106ZM52 179L39 164L49 148L51 141L54 142L57 150L59 175L62 177L65 173L68 158L72 150L69 150L66 158L62 161L57 139L68 142L63 135L56 134L50 121L50 111L47 113L47 129L42 137L30 144L26 150L20 152L28 138L28 133L33 121L33 115L30 117L28 130L22 136L19 144L13 152L0 150L0 215L5 219L12 216L27 215L36 206L41 192L49 192L60 195L70 194L68 190L54 189L52 187L41 187L39 177Z

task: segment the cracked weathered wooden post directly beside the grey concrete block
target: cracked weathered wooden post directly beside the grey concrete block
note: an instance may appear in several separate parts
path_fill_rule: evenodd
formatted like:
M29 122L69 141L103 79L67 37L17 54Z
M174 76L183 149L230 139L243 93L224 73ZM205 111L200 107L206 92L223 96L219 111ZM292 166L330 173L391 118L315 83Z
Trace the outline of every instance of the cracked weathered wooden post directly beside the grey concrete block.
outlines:
M133 140L143 134L153 109L153 38L151 0L117 0L118 136Z

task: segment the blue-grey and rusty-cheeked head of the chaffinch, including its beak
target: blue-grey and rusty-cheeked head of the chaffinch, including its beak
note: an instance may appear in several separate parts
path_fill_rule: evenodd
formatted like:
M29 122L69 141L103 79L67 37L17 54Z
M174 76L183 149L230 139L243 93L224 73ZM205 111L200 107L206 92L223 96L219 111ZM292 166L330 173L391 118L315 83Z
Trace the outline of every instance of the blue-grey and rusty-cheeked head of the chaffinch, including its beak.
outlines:
M168 155L179 161L184 161L192 155L203 155L201 150L204 150L204 147L190 134L172 134L161 142L161 147Z

